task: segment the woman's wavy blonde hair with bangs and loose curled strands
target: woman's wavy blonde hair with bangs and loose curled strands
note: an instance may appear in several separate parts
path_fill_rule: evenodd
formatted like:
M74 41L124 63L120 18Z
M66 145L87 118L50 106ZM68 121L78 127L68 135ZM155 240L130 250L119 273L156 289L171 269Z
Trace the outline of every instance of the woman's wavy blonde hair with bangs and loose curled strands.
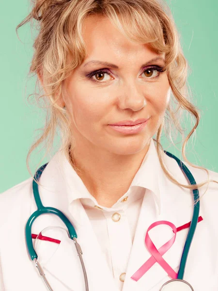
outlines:
M61 94L64 94L64 80L72 74L72 70L81 65L87 55L82 38L83 21L88 16L99 15L108 17L127 39L140 44L149 44L157 54L165 53L165 69L167 69L171 92L175 100L171 98L166 116L157 130L154 141L161 167L167 177L173 183L188 189L196 189L206 183L209 185L210 181L218 183L209 179L207 169L188 162L185 155L187 141L199 124L200 113L191 102L191 92L187 85L187 74L190 68L180 45L180 35L176 29L171 10L165 1L32 0L32 3L30 14L17 25L16 32L19 27L29 21L34 21L34 19L38 21L38 25L36 25L38 34L33 44L34 54L30 73L38 73L42 76L46 94L42 94L36 99L39 101L40 98L44 97L43 100L47 104L47 117L43 133L32 144L27 155L26 162L30 174L29 158L32 151L40 144L45 143L47 153L49 153L54 143L57 128L60 129L62 135L61 149L64 150L68 161L75 170L80 171L74 165L73 157L70 156L70 149L73 148L70 120L66 110L60 107L57 101ZM38 81L39 79L37 79ZM181 120L186 113L191 113L191 118L195 119L195 124L183 143L183 160L188 165L206 171L208 177L206 181L197 185L179 183L167 171L162 160L163 147L160 144L162 130L164 129L172 143L172 125L177 129L176 134L180 132L184 136L185 130L181 128ZM169 121L168 124L166 121Z

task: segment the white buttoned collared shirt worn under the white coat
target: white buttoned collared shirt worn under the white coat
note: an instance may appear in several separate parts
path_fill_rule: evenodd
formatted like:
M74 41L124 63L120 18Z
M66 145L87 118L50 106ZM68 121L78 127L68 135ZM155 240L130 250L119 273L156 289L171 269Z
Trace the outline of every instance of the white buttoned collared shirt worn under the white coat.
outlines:
M70 192L69 202L73 205L76 199L80 199L120 291L123 288L146 187L150 190L156 189L157 167L156 147L151 139L148 151L128 191L110 208L99 205L87 188L81 184L81 179L76 172L74 173L77 191ZM154 192L154 195L158 207L160 205L158 192Z

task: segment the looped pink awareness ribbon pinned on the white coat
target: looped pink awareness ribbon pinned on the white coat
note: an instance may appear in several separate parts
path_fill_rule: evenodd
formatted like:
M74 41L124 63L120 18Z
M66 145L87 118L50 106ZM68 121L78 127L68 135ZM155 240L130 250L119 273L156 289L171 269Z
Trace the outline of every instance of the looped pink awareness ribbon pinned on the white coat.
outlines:
M156 246L150 239L148 232L155 226L161 224L170 226L172 228L172 231L174 232L174 236L157 250ZM148 227L145 235L145 245L152 256L139 268L138 271L136 271L134 275L131 276L133 280L138 281L156 262L167 272L167 274L172 279L177 278L176 272L165 261L165 259L162 258L162 256L171 248L171 246L175 242L176 231L176 226L174 226L174 224L172 224L171 222L165 220L157 221Z

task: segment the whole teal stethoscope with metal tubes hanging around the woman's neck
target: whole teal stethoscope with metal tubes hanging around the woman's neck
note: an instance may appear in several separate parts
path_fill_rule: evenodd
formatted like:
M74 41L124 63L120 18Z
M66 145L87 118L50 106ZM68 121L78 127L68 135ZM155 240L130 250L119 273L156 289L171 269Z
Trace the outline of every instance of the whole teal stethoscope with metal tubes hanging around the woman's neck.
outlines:
M171 153L169 153L167 151L164 151L164 152L169 157L176 160L180 169L184 172L184 174L188 178L190 184L196 185L196 181L195 181L194 177L192 176L191 172L188 170L187 166L182 161L180 161L177 157L172 155ZM46 168L47 164L48 164L48 162L46 164L44 164L43 166L41 166L36 171L36 173L34 175L35 180L37 180L37 181L39 180L39 178L41 177L42 172ZM40 195L39 195L38 184L35 182L35 180L33 179L33 181L32 181L32 189L33 189L33 195L34 195L35 203L37 206L37 210L32 213L32 215L30 216L30 218L28 219L28 222L26 224L26 243L27 243L27 249L28 249L30 258L31 258L31 260L34 261L35 267L37 268L40 276L44 280L48 290L53 291L53 289L51 288L50 284L47 281L47 278L46 278L46 275L43 271L42 266L37 261L38 256L37 256L35 249L33 247L33 242L32 242L32 237L31 237L31 227L32 227L32 224L35 221L35 219L41 214L51 213L51 214L57 215L58 217L61 218L61 220L63 221L63 223L67 227L69 238L72 239L73 242L75 243L77 253L78 253L78 256L80 259L80 263L82 266L82 270L83 270L83 275L84 275L84 280L85 280L85 288L86 288L86 291L88 291L89 290L88 279L87 279L86 269L85 269L83 259L82 259L82 250L81 250L80 245L77 242L78 236L77 236L76 230L75 230L74 226L71 224L71 222L69 221L69 219L62 213L62 211L60 211L56 208L53 208L53 207L45 207L42 204L42 201L41 201ZM194 289L191 287L191 285L187 281L183 280L185 266L186 266L186 262L187 262L187 256L188 256L191 242L192 242L192 239L193 239L193 236L195 233L195 229L196 229L196 226L198 223L198 217L199 217L199 211L200 211L199 191L198 191L198 189L193 189L192 192L193 192L193 197L194 197L194 210L193 210L192 220L191 220L191 224L190 224L190 227L188 230L185 246L183 249L182 258L180 261L178 275L177 275L176 279L169 280L165 284L163 284L159 291L174 291L174 290L176 290L176 291L194 291Z

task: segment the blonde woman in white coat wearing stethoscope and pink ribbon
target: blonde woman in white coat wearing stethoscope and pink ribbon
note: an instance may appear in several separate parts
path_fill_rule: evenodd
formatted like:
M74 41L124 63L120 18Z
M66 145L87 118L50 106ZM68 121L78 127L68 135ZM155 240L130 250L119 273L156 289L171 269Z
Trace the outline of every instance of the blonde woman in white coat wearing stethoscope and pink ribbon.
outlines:
M166 3L35 0L17 28L32 18L39 32L31 72L44 89L38 99L48 115L28 158L42 142L50 153L56 127L61 146L39 180L31 174L0 194L0 290L217 291L218 173L185 156L199 113L188 101L187 61ZM196 119L182 150L197 185L160 144L167 122L182 132L179 110ZM75 227L86 268L83 273L76 240L59 240L62 230L54 226L66 229L62 220L40 215L31 240L37 256L43 245L38 261L51 288L26 245L25 227L37 210L32 183L43 205L61 210ZM201 207L183 278L178 273L197 188Z

